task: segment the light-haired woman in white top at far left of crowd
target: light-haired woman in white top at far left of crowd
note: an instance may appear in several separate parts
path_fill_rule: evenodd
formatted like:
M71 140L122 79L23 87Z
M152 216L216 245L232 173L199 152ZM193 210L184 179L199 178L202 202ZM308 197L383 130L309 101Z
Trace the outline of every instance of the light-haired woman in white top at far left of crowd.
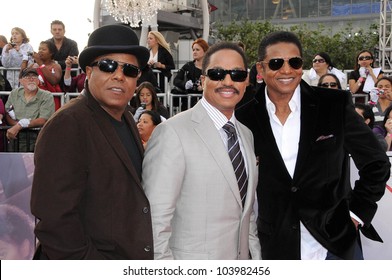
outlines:
M21 68L22 62L33 63L31 54L33 47L29 44L30 39L20 27L11 30L10 43L3 47L1 63L6 68ZM19 86L19 70L7 70L7 80L13 89Z

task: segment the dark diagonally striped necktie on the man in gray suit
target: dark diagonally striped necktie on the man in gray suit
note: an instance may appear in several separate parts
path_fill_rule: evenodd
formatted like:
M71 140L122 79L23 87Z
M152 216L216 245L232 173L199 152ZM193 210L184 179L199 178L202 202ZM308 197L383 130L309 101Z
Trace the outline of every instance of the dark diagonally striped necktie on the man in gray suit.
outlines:
M228 136L227 149L229 152L231 163L233 164L235 176L237 177L242 206L244 206L246 191L248 188L248 175L246 174L245 162L241 153L240 144L238 142L237 132L232 122L227 122L223 126L223 129Z

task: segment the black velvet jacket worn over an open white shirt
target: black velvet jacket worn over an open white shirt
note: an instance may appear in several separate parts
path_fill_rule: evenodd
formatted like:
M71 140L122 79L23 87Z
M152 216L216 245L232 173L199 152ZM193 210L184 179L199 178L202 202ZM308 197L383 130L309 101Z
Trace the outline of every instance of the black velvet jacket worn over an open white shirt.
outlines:
M300 221L335 255L351 259L357 232L380 240L370 223L389 178L388 157L355 112L350 93L301 82L301 134L293 178L276 145L265 84L236 117L253 132L259 157L258 230L263 259L300 259ZM349 154L359 169L350 184Z

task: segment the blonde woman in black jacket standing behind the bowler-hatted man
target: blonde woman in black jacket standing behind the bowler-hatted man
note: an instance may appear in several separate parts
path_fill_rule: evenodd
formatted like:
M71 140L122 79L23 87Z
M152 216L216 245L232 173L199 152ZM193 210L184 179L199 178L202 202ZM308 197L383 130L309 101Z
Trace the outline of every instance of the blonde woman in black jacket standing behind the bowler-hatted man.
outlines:
M165 77L168 81L172 76L171 70L175 68L170 45L158 31L150 31L147 36L147 46L150 49L148 65L161 71L159 75L159 88L165 92Z

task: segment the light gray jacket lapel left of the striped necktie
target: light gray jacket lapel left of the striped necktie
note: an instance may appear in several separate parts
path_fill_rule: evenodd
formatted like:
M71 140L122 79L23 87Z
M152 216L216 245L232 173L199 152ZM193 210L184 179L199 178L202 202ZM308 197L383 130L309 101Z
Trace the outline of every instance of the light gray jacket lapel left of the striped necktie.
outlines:
M210 151L216 164L221 169L223 176L227 180L230 190L235 196L238 204L242 207L237 178L233 172L233 165L231 164L229 154L223 144L219 132L216 130L213 121L208 116L207 111L200 102L198 102L192 110L192 121L197 123L195 127L196 133Z

